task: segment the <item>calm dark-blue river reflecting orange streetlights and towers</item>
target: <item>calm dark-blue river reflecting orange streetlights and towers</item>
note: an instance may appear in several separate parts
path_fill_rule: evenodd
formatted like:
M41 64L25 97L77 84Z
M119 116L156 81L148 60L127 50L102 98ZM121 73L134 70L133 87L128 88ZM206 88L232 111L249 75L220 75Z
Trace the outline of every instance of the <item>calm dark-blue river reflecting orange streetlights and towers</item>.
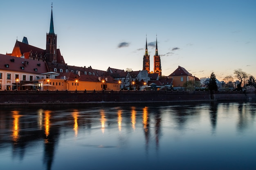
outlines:
M253 170L256 102L1 106L1 170Z

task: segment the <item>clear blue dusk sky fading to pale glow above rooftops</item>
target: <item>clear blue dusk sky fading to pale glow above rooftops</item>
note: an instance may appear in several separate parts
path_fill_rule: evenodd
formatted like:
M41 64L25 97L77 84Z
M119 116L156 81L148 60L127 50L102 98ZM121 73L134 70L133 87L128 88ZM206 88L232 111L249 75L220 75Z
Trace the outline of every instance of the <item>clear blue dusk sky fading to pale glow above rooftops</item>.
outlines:
M198 78L222 81L239 68L256 77L256 0L1 1L0 54L23 37L46 49L52 3L68 65L142 70L147 37L150 70L157 38L162 75L182 66Z

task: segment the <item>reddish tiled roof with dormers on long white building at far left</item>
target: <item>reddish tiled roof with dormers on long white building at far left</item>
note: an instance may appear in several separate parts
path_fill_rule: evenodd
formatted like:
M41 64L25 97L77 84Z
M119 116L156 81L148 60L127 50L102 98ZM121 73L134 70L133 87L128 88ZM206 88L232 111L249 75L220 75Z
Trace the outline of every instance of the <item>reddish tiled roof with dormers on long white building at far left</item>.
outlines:
M45 62L0 54L0 70L41 74L48 72ZM8 67L7 67L8 65Z

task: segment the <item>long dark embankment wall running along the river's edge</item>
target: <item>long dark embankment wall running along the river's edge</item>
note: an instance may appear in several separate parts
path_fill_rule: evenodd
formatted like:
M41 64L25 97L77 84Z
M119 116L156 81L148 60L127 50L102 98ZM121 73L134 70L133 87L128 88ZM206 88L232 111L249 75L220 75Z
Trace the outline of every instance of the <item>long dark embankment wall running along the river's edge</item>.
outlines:
M189 102L256 99L242 91L0 91L0 104Z

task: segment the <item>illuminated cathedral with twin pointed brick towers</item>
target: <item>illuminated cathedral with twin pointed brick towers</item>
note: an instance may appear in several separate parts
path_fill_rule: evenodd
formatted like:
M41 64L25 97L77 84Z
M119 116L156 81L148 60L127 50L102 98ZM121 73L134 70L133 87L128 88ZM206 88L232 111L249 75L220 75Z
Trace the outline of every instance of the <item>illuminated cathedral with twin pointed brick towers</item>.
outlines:
M150 55L148 54L148 44L146 38L146 51L145 55L143 56L143 68L142 70L148 71L150 73L157 73L159 76L162 76L162 68L161 68L161 60L160 55L158 54L157 50L157 38L156 38L156 46L155 46L155 55L154 55L154 71L150 72Z

